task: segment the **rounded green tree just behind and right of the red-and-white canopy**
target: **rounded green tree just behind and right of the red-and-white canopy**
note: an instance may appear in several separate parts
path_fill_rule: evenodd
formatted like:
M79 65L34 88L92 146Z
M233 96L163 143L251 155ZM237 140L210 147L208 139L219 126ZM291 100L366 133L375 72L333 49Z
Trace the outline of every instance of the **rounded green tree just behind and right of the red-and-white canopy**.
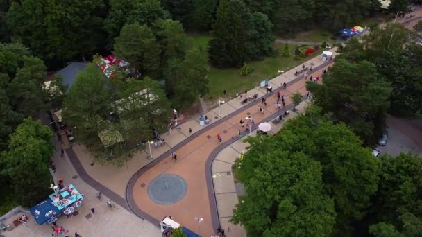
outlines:
M115 55L129 62L141 76L160 75L161 47L151 28L137 23L126 25L115 41Z

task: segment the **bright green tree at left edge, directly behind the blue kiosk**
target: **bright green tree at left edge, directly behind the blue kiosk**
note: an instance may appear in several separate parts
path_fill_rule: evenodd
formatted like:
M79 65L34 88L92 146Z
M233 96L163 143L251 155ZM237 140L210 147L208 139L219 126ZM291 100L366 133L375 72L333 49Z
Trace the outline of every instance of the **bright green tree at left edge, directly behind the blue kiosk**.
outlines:
M40 121L25 119L11 135L8 150L1 153L5 166L1 172L11 178L14 198L24 207L32 207L49 194L52 136L50 129Z

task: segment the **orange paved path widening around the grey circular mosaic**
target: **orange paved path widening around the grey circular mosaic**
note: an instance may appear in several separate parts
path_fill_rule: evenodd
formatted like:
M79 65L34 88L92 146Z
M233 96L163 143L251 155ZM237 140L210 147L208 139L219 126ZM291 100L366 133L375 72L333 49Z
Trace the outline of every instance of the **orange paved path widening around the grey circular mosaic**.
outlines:
M330 63L332 62L326 62L316 67L312 70L312 73L321 75L321 70ZM298 76L287 82L287 89L281 89L281 94L286 96L287 107L292 107L289 98L291 94L296 91L303 95L307 93L303 79L303 75ZM232 114L196 132L196 134L155 159L148 166L138 170L130 179L126 188L128 207L137 216L155 223L158 223L164 216L173 216L177 222L193 231L198 231L199 228L194 218L201 217L204 220L199 224L200 234L203 236L215 234L215 230L219 227L219 218L212 182L212 160L221 149L237 140L239 130L244 130L239 125L240 119L251 115L255 119L253 126L253 129L255 129L261 121L268 121L280 114L280 110L276 109L275 106L277 97L274 94L273 92L273 94L266 96L267 106L262 105L265 109L264 114L258 112L258 105L261 105L261 100L258 98L255 102L237 109ZM222 143L217 141L217 134L221 135ZM232 140L232 136L236 139ZM171 160L171 152L176 152L178 155L176 163ZM149 198L147 192L149 183L162 174L176 174L185 179L187 192L182 200L174 204L160 205Z

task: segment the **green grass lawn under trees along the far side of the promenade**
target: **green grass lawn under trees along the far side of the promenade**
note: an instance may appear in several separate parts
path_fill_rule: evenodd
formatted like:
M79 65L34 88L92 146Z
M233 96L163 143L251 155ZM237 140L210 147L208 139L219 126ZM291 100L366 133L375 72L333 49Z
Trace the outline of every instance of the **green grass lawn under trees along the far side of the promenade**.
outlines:
M210 40L208 35L192 35L192 37L194 38L195 44L200 46L206 46L208 40ZM277 57L267 57L261 61L248 63L248 67L254 69L253 73L248 76L240 76L240 69L217 69L210 66L210 72L208 74L210 93L206 99L211 100L222 96L224 89L226 89L230 97L234 97L236 92L242 94L246 89L249 90L257 86L265 78L271 79L276 77L278 70L288 71L322 53L322 50L319 50L307 58L296 61L293 59L293 52L296 46L290 46L290 57L283 57L281 55L284 44L276 44L275 47L279 52Z

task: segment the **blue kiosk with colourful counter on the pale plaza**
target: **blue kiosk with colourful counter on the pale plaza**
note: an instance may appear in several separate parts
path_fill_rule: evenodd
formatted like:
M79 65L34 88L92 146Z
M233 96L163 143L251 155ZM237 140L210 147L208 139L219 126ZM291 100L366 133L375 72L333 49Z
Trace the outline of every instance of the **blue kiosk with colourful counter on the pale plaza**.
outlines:
M29 211L35 221L42 225L45 222L51 222L60 214L71 214L76 207L81 206L83 195L79 193L73 184L69 184L66 188L53 193L50 198L44 202L35 205Z

